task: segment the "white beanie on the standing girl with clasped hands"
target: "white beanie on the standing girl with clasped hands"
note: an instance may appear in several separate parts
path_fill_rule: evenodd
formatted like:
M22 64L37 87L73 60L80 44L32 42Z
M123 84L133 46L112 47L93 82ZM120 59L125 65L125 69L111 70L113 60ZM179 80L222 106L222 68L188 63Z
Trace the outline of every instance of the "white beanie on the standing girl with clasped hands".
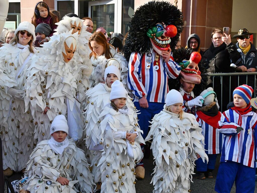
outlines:
M124 88L121 81L119 81L119 80L114 81L114 83L112 83L111 87L112 87L112 90L111 90L111 93L110 93L110 101L113 100L113 99L127 98L128 97L128 92Z

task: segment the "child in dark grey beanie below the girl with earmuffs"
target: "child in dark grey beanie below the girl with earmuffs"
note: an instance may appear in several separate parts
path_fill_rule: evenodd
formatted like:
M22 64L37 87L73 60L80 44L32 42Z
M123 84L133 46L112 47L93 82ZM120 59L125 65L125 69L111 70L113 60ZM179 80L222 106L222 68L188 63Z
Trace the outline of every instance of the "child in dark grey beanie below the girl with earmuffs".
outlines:
M50 25L46 23L40 23L36 26L35 33L36 39L34 41L35 47L40 47L45 41L44 39L47 38L48 41L50 40L49 35L52 32Z

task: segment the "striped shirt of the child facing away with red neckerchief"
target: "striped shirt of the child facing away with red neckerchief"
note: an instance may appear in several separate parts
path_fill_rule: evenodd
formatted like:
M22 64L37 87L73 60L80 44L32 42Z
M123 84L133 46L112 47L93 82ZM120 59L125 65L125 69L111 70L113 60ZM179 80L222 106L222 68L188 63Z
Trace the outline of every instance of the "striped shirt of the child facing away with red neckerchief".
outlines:
M221 114L221 112L218 112ZM197 114L195 115L199 127L202 128L202 134L204 136L204 149L207 154L218 154L221 153L222 141L224 136L220 133L217 128L209 125L207 122L201 119Z

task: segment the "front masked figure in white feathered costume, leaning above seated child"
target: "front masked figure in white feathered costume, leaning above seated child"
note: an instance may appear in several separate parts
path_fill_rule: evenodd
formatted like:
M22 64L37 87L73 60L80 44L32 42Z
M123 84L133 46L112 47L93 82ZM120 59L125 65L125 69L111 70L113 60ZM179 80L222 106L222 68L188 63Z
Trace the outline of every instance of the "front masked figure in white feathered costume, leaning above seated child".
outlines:
M53 35L32 58L25 84L26 111L30 109L38 141L45 135L57 115L67 116L69 136L76 141L82 137L84 117L81 113L85 100L87 79L82 75L86 66L74 59L78 33ZM82 59L81 59L82 61Z

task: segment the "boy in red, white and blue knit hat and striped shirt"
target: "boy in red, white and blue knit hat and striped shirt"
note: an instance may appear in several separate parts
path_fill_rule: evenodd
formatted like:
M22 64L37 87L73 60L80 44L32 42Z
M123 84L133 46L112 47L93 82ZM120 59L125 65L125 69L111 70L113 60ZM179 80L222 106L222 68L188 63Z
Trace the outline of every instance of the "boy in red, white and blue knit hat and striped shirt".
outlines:
M215 190L254 192L257 114L252 111L253 89L243 84L233 91L235 107L222 113L217 129L224 137Z

